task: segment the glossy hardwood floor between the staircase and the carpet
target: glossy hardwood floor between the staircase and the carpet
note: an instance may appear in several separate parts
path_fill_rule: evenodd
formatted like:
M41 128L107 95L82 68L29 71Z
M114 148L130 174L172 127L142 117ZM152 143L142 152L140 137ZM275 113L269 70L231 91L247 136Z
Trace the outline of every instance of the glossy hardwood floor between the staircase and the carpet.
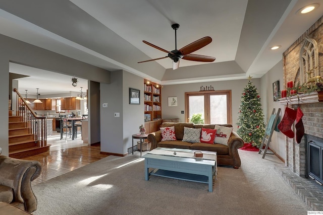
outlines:
M40 176L32 181L31 185L39 184L107 157L107 155L100 154L100 145L89 147L83 144L80 136L74 140L71 138L60 140L59 134L54 133L47 139L47 144L51 145L49 152L21 158L39 161L42 165Z

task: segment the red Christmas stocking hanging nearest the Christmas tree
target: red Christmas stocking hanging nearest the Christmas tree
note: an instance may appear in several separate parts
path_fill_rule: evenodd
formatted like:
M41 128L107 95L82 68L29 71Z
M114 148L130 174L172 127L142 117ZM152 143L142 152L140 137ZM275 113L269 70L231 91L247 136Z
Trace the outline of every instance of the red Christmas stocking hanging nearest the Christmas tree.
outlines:
M296 119L296 113L296 110L286 107L284 117L278 124L278 129L289 138L294 138L294 132L291 130L291 127Z

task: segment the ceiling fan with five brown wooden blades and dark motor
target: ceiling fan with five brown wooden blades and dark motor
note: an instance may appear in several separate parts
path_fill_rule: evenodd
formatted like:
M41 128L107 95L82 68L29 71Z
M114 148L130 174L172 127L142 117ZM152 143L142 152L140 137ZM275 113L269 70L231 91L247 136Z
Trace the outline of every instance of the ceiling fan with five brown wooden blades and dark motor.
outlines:
M167 51L163 48L160 48L154 44L151 44L145 40L143 40L142 42L144 42L145 44L154 47L160 51L164 51L166 53L168 53L167 56L165 57L159 57L159 58L155 58L155 59L150 59L150 60L144 60L144 61L140 61L138 63L142 63L142 62L148 62L148 61L153 61L153 60L159 60L159 59L164 59L164 58L171 58L173 60L173 69L177 69L179 67L180 64L180 59L184 59L184 60L192 60L192 61L200 61L200 62L213 62L216 58L215 57L210 57L210 56L205 56L205 55L199 55L199 54L191 54L192 52L206 46L207 44L209 44L210 42L212 42L212 38L210 37L203 37L199 40L196 40L195 42L192 42L190 44L188 44L187 46L184 46L183 48L177 50L177 38L176 38L176 30L180 27L179 24L173 24L172 28L175 30L175 50L173 51Z

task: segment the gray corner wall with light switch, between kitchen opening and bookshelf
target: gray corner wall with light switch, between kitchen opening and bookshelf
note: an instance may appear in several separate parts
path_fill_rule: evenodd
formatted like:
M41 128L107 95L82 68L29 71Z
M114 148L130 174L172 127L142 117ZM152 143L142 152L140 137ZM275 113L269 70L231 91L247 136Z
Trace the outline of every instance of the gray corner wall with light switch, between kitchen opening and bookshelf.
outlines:
M140 105L129 104L130 87L140 90ZM101 84L100 91L101 152L125 155L132 146L132 134L139 133L144 123L143 78L127 71L113 71L111 84ZM103 103L108 103L107 108L102 108Z

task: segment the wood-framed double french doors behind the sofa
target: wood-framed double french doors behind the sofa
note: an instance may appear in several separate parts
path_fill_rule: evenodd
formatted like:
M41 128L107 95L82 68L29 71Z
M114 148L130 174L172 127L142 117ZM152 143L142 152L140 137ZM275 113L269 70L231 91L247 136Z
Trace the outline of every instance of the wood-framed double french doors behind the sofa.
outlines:
M231 90L186 92L186 122L200 113L204 124L232 124L231 104Z

